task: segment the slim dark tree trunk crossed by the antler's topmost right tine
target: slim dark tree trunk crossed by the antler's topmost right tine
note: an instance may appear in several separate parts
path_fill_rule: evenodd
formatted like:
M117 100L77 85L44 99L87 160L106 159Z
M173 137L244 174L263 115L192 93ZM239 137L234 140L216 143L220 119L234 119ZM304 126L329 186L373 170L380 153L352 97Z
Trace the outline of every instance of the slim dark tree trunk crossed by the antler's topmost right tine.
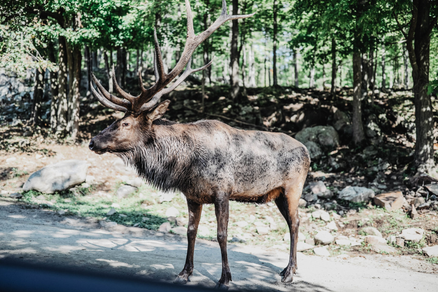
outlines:
M233 0L233 15L238 14L239 4L237 0ZM237 48L237 39L239 37L239 23L237 19L233 19L231 27L231 54L230 54L230 84L231 84L231 98L235 99L240 91L239 86L239 51Z

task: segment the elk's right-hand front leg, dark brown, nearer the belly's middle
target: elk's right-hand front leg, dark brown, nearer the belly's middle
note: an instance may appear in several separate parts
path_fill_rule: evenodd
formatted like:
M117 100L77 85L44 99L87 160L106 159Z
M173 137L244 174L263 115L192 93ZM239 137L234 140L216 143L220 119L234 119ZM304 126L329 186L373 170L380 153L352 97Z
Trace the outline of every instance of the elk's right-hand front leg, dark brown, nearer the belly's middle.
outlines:
M217 238L222 255L222 275L216 284L217 289L228 290L229 282L232 281L228 256L226 254L226 237L229 218L229 197L225 193L219 193L215 200L215 213L218 222Z

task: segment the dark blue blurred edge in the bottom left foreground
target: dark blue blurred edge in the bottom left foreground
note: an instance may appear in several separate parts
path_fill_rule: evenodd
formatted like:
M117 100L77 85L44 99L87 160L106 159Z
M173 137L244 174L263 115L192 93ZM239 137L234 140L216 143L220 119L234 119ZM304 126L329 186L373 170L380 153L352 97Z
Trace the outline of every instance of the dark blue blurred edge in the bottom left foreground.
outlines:
M208 288L180 286L90 271L0 260L1 292L201 292Z

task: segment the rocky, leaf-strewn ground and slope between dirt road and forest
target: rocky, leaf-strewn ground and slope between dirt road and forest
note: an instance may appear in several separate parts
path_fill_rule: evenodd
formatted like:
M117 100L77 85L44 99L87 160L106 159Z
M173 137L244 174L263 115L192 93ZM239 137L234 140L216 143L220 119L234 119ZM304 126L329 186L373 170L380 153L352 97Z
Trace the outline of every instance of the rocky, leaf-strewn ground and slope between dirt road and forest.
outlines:
M302 253L403 255L422 261L430 267L427 272L437 272L438 184L428 176L410 179L415 128L409 91L381 93L374 106L365 107L368 140L356 148L349 143L349 89L339 91L336 99L326 91L248 89L248 99L238 104L220 96L220 90L209 89L203 113L197 90L174 92L168 118L180 122L219 118L233 127L282 131L307 146L312 164L300 200ZM96 220L102 228L125 225L185 234L183 194L155 190L117 157L88 150L88 139L120 113L104 112L84 99L81 140L73 142L47 128L28 126L25 98L14 97L1 108L2 196L56 212L66 220L71 216ZM67 162L71 159L76 161ZM33 172L54 163L60 165L46 169L47 178L28 180ZM60 169L70 173L70 183L49 183ZM215 228L214 209L205 206L198 237L214 241ZM273 203L230 204L230 243L284 252L290 248L288 231Z

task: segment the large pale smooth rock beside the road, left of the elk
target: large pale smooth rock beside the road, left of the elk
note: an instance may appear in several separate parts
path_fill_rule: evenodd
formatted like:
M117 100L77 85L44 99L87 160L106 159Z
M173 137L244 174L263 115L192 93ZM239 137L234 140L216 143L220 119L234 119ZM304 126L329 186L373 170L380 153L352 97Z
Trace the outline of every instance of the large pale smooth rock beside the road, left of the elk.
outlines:
M47 165L32 173L23 185L23 190L54 193L68 190L85 182L88 164L84 160L65 160Z

